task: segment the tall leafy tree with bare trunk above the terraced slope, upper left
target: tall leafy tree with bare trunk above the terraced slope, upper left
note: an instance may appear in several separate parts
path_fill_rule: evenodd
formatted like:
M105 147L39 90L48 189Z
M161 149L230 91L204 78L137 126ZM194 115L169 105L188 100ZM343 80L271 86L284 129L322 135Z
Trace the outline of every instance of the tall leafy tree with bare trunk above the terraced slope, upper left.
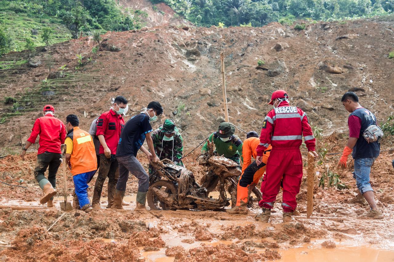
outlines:
M74 39L78 39L78 32L80 28L87 25L88 18L90 18L88 11L79 3L72 7L71 11L65 13L63 21L70 29Z

